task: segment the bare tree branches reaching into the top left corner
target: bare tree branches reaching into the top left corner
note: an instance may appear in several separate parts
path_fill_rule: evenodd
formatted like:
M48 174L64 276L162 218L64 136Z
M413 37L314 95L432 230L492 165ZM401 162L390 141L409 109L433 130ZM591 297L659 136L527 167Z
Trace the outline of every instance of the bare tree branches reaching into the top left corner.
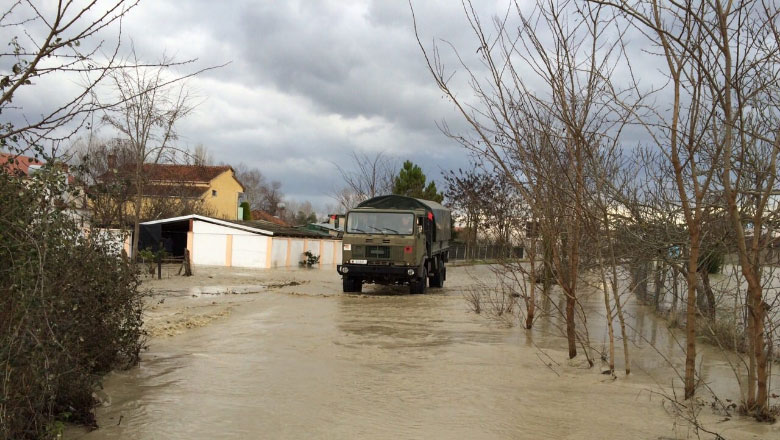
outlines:
M106 105L93 93L112 72L129 67L99 35L119 24L138 1L57 2L35 5L16 0L0 8L0 29L11 35L0 53L0 147L23 153L44 142L59 143L89 123ZM25 112L17 99L41 80L71 77L82 85L43 114Z

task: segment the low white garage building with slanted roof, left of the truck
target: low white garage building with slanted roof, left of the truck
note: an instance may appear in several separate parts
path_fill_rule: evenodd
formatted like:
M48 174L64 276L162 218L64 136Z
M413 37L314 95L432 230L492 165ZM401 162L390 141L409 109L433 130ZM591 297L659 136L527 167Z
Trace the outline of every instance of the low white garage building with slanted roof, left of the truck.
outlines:
M320 266L341 263L341 240L262 220L233 222L186 215L141 223L139 248L163 246L174 257L189 250L192 264L265 269L297 266L309 251Z

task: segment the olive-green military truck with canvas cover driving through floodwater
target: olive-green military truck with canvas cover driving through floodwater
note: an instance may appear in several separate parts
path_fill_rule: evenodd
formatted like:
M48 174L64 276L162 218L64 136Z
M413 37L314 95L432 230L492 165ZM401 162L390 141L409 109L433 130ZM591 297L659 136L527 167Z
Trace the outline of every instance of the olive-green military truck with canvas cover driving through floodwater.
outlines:
M409 292L443 287L451 238L450 210L430 200L374 197L347 213L341 274L344 292L363 284L408 284Z

